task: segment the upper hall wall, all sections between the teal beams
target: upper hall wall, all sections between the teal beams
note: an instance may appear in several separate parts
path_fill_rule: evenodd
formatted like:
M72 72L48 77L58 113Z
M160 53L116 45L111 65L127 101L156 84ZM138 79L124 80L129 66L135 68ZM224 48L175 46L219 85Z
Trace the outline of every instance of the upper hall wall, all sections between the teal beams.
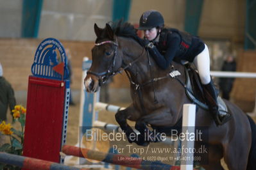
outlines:
M93 41L93 24L103 27L112 19L112 3L112 0L44 0L38 37ZM205 0L199 35L243 42L245 4L244 0ZM167 26L183 29L185 0L133 0L129 21L137 24L141 14L150 9L159 10ZM22 1L0 0L0 14L0 37L19 38Z

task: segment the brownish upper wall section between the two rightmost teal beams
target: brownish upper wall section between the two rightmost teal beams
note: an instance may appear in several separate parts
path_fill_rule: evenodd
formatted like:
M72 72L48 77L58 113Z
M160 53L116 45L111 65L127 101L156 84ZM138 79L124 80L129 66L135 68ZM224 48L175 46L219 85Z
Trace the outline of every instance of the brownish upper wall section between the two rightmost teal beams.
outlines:
M243 42L246 19L245 0L205 0L199 35L203 38Z

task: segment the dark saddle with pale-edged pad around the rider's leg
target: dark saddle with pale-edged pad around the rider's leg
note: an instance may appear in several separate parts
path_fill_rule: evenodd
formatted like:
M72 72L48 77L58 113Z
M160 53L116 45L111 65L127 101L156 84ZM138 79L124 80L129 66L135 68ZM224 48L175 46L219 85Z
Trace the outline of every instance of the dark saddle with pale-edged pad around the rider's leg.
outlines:
M198 105L202 109L209 110L209 107L206 104L206 98L203 93L203 87L200 81L198 71L192 68L191 64L189 63L186 63L184 65L184 68L186 77L185 93L187 94L187 97L189 97L194 104ZM226 107L223 99L219 96L219 91L217 88L216 95L218 96L217 102L219 106L219 112L220 114L225 114L225 112L228 112L228 108Z

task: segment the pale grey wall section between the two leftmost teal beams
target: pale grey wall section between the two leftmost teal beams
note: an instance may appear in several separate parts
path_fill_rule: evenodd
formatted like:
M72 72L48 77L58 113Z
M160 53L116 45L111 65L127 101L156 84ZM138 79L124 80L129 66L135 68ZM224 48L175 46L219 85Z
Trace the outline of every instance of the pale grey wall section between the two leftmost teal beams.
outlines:
M112 0L44 0L39 38L95 40L93 25L112 19Z

